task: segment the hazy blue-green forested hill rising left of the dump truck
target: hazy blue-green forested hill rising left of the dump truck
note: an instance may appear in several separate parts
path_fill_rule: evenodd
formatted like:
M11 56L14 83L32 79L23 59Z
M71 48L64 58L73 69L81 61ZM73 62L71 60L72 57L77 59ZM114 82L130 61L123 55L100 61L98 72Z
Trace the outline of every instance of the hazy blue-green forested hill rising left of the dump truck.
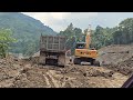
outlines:
M18 40L11 44L14 53L32 54L39 49L39 38L42 34L57 34L51 28L19 12L0 12L0 28L11 29ZM28 50L32 47L32 51Z

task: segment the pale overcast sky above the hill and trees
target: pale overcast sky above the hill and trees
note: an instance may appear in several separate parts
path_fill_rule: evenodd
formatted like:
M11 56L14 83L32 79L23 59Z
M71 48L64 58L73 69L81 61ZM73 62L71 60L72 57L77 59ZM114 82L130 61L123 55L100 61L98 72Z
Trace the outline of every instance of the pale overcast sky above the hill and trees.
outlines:
M54 31L64 30L71 22L74 27L86 29L115 27L125 18L133 18L133 12L22 12L27 16L40 20L44 26L49 26Z

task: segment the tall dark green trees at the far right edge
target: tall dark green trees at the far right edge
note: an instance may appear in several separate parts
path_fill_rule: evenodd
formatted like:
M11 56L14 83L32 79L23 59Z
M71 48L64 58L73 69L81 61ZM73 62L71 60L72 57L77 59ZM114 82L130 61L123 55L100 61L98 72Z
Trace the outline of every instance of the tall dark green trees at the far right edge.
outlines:
M115 44L127 44L133 42L133 18L127 18L120 22L113 33Z

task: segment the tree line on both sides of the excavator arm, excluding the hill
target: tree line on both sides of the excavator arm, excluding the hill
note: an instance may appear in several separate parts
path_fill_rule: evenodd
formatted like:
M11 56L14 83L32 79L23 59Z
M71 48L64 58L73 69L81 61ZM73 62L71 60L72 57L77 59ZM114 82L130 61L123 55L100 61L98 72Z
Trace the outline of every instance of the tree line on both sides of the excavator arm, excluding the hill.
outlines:
M86 32L86 29L83 31ZM84 41L80 28L74 28L71 23L64 31L60 31L59 36L65 36L68 38L66 49L74 50L74 44L78 41ZM133 18L127 18L119 23L119 27L102 28L98 26L95 30L92 30L91 47L100 49L110 44L129 44L133 43Z

